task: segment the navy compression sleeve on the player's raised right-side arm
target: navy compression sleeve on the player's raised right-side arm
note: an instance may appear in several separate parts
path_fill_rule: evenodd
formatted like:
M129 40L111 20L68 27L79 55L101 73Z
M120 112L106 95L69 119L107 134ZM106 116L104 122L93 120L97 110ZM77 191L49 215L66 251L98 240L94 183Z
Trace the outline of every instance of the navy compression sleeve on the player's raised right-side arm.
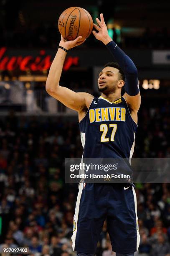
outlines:
M114 41L109 42L109 44L107 44L106 46L124 72L125 92L127 92L127 94L129 94L130 96L137 95L140 92L137 78L138 72L132 59L130 59L129 56L127 56Z

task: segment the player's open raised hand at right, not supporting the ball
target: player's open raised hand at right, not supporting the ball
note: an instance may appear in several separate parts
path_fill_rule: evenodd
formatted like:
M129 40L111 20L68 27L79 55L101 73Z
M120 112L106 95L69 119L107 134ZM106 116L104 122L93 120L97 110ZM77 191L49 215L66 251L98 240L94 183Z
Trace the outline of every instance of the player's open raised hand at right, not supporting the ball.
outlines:
M93 24L94 28L96 28L96 31L92 31L96 39L102 41L104 44L108 44L110 41L112 41L112 38L109 36L107 31L106 23L104 22L103 14L100 14L100 20L96 18L96 21L98 23L98 26L96 24Z

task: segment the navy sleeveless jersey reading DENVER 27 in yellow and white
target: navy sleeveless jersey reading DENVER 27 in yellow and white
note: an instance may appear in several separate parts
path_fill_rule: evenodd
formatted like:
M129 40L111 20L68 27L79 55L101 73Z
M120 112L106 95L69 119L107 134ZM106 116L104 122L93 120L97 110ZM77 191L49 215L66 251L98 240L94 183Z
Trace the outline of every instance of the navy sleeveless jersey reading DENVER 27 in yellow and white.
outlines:
M132 157L137 124L124 97L114 102L94 97L79 128L83 158Z

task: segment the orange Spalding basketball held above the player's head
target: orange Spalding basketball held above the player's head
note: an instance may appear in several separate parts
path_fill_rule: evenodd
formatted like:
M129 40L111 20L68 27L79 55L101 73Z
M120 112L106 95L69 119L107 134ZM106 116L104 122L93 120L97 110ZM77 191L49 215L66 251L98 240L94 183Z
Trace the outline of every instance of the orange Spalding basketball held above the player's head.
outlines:
M82 36L82 41L89 37L93 29L93 19L85 9L70 7L61 13L58 19L58 29L63 38L68 41Z

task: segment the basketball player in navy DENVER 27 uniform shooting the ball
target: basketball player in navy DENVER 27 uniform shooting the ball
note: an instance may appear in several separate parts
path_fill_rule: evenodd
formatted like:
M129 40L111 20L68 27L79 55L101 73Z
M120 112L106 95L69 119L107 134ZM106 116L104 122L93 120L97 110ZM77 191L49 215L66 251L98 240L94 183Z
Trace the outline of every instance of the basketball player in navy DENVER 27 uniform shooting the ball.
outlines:
M109 63L99 73L100 97L73 92L59 81L67 51L82 44L81 36L66 41L61 36L59 49L51 65L46 91L68 108L79 113L84 158L131 158L140 108L137 69L133 61L109 37L103 15L96 19L93 31L117 63ZM125 93L121 97L122 87ZM73 250L78 256L95 254L104 223L117 256L133 256L140 236L137 228L137 203L133 184L80 183L73 230Z

